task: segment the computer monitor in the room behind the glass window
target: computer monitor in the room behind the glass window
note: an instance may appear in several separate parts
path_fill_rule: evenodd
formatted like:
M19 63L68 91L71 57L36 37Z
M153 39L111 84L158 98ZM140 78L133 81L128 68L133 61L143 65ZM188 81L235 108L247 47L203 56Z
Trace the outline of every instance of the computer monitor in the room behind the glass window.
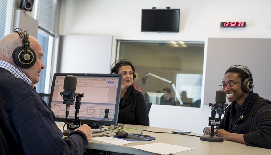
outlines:
M165 104L165 94L164 93L154 93L154 92L147 92L145 93L145 101L151 102L152 104Z

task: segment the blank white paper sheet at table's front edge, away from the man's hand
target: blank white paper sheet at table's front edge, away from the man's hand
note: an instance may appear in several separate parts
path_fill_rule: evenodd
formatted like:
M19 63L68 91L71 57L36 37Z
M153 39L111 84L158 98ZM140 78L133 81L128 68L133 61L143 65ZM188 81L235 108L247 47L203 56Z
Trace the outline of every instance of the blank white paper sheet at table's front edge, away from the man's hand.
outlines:
M141 149L141 150L152 152L152 153L163 154L163 155L176 153L176 152L182 152L182 151L188 151L188 150L193 149L193 148L171 145L171 144L166 144L166 143L152 143L152 144L136 145L136 146L130 146L130 147Z

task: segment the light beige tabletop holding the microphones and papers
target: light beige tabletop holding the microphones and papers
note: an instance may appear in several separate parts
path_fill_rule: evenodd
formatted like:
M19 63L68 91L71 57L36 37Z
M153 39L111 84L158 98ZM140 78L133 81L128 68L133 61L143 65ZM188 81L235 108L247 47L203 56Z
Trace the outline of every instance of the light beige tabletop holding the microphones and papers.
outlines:
M62 130L63 125L58 124L58 127L59 129ZM156 127L148 127L148 126L140 126L140 125L129 125L129 124L125 124L125 127L137 129L137 130L128 129L126 130L128 133L139 133L141 130L172 133L173 130L176 130L176 129L156 128ZM104 133L110 133L110 131L95 133L93 135L102 135ZM144 131L143 134L144 133L152 137L155 137L156 139L153 141L134 141L134 143L126 144L126 145L112 145L112 144L103 143L103 142L90 139L88 141L87 148L118 152L118 153L135 154L135 155L137 154L138 155L155 155L155 153L150 153L143 150L134 149L129 146L162 142L162 143L167 143L167 144L172 144L172 145L179 145L179 146L194 148L193 150L189 150L189 151L173 153L174 155L195 155L195 154L206 154L206 155L207 154L208 155L212 155L212 154L246 154L246 155L268 154L269 155L271 154L271 149L250 147L250 146L246 146L244 144L240 144L233 141L208 142L208 141L200 140L200 137L188 136L188 135L201 136L200 134L196 134L196 133L186 133L187 135L169 134L169 133L152 133L148 131ZM114 136L115 134L108 134L108 135Z

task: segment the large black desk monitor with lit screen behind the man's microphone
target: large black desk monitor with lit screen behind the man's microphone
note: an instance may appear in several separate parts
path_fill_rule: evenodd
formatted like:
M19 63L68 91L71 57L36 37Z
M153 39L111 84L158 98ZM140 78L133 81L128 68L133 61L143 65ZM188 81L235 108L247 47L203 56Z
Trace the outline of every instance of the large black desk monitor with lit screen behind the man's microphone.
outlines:
M117 125L121 74L74 74L55 73L53 77L49 107L55 114L55 120L65 122L66 104L60 92L63 92L64 78L73 75L77 78L75 93L83 93L79 120L88 125ZM70 106L68 119L75 119L75 102Z

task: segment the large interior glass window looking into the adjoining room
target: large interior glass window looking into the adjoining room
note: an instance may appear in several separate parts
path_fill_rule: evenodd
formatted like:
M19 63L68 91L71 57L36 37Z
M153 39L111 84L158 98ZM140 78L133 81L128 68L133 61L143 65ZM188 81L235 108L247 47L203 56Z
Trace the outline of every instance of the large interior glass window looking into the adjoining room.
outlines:
M116 60L127 59L135 67L144 97L168 87L174 105L200 108L204 42L118 40L117 49Z

